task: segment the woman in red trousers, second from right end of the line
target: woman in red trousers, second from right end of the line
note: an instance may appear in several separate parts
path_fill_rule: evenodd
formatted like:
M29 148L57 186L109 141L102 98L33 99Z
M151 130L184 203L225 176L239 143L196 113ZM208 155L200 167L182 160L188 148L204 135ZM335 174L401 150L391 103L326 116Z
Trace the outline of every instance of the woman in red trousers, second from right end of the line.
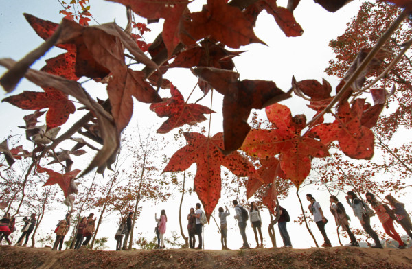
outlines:
M381 202L376 200L374 194L371 194L370 192L367 192L365 194L366 200L371 204L372 209L376 212L376 215L378 215L380 223L382 223L383 229L385 230L385 233L398 241L399 249L404 249L405 244L400 238L399 233L395 230L395 227L393 227L393 218L389 215L387 212L387 209L383 206Z

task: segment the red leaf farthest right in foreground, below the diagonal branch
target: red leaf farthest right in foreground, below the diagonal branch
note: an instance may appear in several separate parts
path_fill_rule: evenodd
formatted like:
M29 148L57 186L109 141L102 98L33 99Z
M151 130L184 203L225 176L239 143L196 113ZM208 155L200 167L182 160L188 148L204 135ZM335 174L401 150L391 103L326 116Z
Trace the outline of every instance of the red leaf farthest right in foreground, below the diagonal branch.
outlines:
M365 100L356 100L350 108L345 102L338 108L338 119L332 124L319 124L308 132L310 137L319 137L328 145L339 141L344 154L353 159L371 159L374 156L374 133L361 125Z

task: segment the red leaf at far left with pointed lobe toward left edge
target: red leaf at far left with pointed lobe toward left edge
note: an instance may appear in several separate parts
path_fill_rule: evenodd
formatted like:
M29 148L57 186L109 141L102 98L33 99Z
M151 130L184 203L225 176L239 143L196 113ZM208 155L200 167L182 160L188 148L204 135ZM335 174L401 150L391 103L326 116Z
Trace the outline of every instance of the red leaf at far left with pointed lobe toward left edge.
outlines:
M21 109L39 110L49 108L46 114L48 128L55 128L64 124L69 115L76 110L73 103L60 91L23 91L19 95L13 95L3 99Z

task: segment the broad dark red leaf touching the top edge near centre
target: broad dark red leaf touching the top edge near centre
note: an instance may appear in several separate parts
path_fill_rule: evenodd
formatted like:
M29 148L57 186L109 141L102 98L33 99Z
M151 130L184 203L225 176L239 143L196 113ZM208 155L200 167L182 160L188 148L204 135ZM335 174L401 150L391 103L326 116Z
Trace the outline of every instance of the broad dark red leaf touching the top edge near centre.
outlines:
M250 43L264 44L255 36L253 23L225 0L207 0L201 12L185 14L182 23L180 39L185 45L194 45L207 36L235 49Z

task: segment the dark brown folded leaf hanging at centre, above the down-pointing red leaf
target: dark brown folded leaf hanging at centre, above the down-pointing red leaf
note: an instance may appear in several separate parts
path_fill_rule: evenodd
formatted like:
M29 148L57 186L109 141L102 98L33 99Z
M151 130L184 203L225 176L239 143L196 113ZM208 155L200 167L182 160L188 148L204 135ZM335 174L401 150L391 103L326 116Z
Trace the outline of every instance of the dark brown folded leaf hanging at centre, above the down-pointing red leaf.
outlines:
M211 84L223 98L223 131L227 152L237 150L251 130L247 119L253 108L262 109L268 100L279 102L290 97L275 82L264 80L238 81L238 73L210 67L194 69L199 78Z

